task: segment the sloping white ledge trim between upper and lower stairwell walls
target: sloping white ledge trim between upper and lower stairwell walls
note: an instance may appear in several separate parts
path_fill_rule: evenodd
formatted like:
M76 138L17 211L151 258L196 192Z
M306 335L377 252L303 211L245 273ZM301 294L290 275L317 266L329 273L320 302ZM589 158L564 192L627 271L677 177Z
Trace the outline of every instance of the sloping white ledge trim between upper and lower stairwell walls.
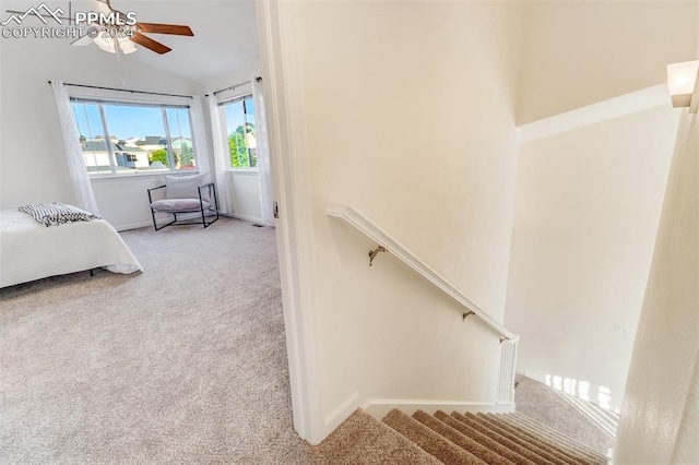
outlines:
M520 126L517 128L519 143L534 142L562 132L662 106L670 106L670 94L666 84L631 92L630 94Z

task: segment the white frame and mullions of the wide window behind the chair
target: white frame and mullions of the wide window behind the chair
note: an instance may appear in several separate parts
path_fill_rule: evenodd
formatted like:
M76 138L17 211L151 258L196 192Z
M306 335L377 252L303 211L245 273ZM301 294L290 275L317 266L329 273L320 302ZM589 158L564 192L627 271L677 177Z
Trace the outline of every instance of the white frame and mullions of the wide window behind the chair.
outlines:
M190 105L188 104L181 104L181 103L167 103L167 102L151 102L151 100L131 100L128 98L121 99L119 97L99 97L99 96L82 96L82 95L70 95L70 103L71 106L74 103L78 104L90 104L90 105L96 105L98 112L99 112L99 119L100 119L100 129L102 129L102 134L105 138L105 146L106 146L106 152L107 152L107 156L109 158L109 172L94 172L94 171L90 171L87 169L87 166L85 166L85 170L87 170L87 174L90 176L91 180L99 180L99 179L127 179L127 178L139 178L139 177L156 177L156 176L187 176L187 175L198 175L200 174L200 166L199 166L199 156L198 156L198 151L197 151L197 141L194 140L194 128L192 124L192 114L191 114L191 109L190 109ZM105 115L105 105L112 105L112 106L121 106L121 107L150 107L150 108L158 108L161 109L161 117L163 118L163 129L165 131L165 141L166 141L166 151L168 153L168 166L167 169L162 169L162 170L142 170L142 171L133 171L133 172L122 172L122 174L118 174L117 172L117 160L116 160L116 156L114 154L111 144L108 143L109 141L109 126L107 122L107 117ZM170 131L169 131L169 121L168 121L168 116L167 116L167 110L168 109L187 109L187 119L188 119L188 123L189 123L189 133L190 133L190 139L191 139L191 143L192 143L192 152L193 152L193 159L194 159L194 168L191 169L176 169L174 168L175 165L175 157L169 155L169 154L174 154L173 151L173 146L171 146L171 139L170 139ZM75 120L75 127L78 129L78 132L80 133L80 127L78 126L78 121ZM84 154L83 154L84 156Z

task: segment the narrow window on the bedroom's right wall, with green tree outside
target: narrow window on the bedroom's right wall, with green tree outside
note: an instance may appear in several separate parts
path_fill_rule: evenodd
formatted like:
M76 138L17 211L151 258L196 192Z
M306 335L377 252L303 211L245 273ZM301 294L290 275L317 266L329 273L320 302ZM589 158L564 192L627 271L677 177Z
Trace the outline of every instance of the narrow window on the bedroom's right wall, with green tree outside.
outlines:
M230 168L256 168L258 155L252 95L218 105L222 107L226 121Z

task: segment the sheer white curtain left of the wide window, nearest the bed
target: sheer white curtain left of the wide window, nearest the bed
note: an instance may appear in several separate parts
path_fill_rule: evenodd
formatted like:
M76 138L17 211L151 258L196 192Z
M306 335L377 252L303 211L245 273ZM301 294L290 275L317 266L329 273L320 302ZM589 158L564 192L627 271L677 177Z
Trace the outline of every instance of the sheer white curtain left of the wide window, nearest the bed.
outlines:
M68 162L68 171L70 180L73 184L73 193L75 194L75 205L87 212L99 215L95 193L92 190L90 175L85 167L85 158L83 150L80 146L80 134L78 133L78 124L75 124L75 116L70 105L70 96L62 81L51 81L54 96L56 97L56 107L58 109L58 120L63 135L63 152Z

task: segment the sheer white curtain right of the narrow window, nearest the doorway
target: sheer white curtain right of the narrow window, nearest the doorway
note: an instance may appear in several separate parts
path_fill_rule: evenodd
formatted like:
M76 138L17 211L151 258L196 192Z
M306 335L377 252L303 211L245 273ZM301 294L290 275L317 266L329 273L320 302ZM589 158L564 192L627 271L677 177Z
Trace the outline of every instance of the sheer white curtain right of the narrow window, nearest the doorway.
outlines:
M270 146L266 139L266 112L262 79L252 78L252 98L254 99L254 128L257 132L258 175L260 181L260 205L262 223L274 226L272 212L272 176L270 174Z

